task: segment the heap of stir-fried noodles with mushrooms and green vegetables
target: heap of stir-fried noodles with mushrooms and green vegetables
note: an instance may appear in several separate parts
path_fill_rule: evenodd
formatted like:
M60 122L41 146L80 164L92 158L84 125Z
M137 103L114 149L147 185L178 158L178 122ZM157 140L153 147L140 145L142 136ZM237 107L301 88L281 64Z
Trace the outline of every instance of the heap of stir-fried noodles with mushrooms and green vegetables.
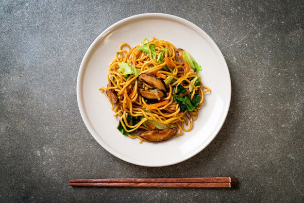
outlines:
M165 141L190 131L198 118L210 91L200 70L188 52L168 41L153 37L134 48L124 42L109 65L108 85L100 90L120 117L117 128L123 135Z

